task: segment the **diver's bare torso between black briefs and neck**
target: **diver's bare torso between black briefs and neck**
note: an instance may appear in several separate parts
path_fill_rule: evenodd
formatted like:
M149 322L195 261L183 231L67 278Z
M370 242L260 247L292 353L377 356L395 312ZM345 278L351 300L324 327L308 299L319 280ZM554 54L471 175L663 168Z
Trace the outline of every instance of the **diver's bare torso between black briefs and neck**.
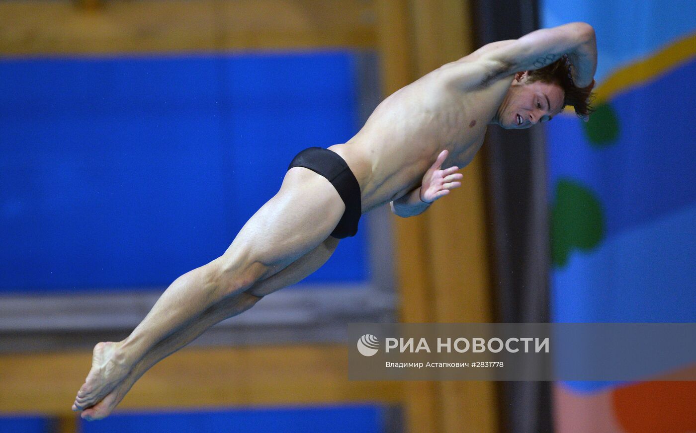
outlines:
M445 166L462 168L480 149L486 128L513 76L482 85L486 72L474 54L443 65L377 106L356 136L329 149L340 154L361 185L363 212L420 186L444 149ZM470 80L450 81L449 70L470 69Z

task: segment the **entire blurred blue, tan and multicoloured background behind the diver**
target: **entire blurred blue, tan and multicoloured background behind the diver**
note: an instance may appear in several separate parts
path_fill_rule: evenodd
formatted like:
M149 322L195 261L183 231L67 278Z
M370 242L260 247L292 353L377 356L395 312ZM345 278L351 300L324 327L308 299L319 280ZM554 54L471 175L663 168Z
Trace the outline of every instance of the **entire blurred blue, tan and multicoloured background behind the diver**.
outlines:
M690 0L0 1L0 432L696 431L696 382L349 382L348 322L696 322ZM98 341L292 156L494 40L585 21L596 113L491 127L462 188L70 411ZM656 372L665 373L665 372Z

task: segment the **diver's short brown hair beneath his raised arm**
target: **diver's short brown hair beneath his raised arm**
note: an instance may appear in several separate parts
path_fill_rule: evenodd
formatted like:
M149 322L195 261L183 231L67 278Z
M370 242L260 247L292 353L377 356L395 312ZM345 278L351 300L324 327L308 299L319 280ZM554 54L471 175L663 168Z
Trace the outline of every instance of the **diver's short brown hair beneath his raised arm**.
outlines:
M551 65L542 67L539 70L530 71L529 82L542 81L544 83L557 83L563 88L564 99L563 106L573 106L575 113L579 116L592 114L594 108L590 105L594 99L592 84L587 87L576 87L571 75L571 64L567 56L562 56L560 59L551 63Z

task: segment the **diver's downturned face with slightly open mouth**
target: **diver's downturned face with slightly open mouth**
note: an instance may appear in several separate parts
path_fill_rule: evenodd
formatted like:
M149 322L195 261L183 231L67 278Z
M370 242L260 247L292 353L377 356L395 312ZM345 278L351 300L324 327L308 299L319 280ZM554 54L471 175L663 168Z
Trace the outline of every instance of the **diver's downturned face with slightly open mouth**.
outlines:
M498 119L505 129L525 129L539 122L548 122L563 109L564 92L555 83L528 82L527 72L515 75Z

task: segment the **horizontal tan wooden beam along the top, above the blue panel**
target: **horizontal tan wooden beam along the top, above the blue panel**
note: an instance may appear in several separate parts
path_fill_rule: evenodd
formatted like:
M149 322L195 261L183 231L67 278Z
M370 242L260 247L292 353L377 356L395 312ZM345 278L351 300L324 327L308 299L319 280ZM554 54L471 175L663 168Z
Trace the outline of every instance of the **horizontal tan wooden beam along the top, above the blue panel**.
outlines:
M374 47L374 2L0 2L0 55Z

